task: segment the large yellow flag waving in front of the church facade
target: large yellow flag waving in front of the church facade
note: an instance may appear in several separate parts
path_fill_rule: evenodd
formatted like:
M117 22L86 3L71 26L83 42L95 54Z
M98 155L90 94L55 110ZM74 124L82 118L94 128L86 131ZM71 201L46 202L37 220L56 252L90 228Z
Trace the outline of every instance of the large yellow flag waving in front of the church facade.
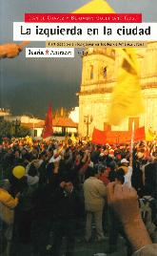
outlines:
M111 125L118 125L125 117L144 112L136 52L134 49L117 51L122 60L108 111L108 123Z

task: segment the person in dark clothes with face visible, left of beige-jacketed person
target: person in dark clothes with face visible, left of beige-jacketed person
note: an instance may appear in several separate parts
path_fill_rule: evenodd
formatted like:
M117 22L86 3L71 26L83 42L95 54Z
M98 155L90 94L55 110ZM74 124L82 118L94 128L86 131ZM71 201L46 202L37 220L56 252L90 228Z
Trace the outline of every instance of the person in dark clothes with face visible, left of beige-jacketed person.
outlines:
M62 239L67 239L66 256L74 255L76 220L80 214L80 199L71 179L61 181L54 193L54 224L52 255L59 256Z

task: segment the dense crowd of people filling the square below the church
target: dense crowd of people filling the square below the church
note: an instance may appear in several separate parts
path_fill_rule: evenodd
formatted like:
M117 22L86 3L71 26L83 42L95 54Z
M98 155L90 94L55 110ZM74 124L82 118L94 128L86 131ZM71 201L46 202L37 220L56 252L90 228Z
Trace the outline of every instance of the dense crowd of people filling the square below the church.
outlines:
M77 237L108 238L109 254L119 234L128 256L156 255L155 143L130 151L128 144L4 139L0 175L1 255L20 255L17 245L30 245L31 255L59 256L65 238L72 256Z

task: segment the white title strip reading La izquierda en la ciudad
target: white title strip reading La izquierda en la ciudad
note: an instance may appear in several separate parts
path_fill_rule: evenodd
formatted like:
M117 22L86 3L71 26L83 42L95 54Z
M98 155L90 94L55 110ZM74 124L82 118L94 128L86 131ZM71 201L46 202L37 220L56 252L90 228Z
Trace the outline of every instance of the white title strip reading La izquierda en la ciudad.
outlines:
M157 23L13 22L14 41L157 41Z

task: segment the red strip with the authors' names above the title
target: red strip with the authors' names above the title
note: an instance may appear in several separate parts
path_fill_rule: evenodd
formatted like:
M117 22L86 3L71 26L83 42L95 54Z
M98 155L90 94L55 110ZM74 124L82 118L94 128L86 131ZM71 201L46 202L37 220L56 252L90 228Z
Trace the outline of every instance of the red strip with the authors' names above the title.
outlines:
M25 22L141 23L141 13L25 13Z

